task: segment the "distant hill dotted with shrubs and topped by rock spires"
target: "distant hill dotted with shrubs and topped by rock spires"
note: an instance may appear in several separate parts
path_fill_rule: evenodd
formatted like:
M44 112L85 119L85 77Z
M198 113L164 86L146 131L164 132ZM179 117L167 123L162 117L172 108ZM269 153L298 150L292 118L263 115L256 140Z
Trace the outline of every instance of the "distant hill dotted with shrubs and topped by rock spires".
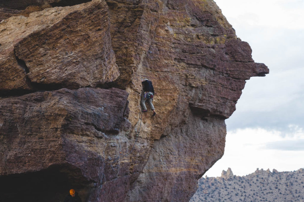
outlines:
M197 201L304 201L304 169L293 172L257 170L240 177L230 168L221 177L199 179L199 188L190 199Z

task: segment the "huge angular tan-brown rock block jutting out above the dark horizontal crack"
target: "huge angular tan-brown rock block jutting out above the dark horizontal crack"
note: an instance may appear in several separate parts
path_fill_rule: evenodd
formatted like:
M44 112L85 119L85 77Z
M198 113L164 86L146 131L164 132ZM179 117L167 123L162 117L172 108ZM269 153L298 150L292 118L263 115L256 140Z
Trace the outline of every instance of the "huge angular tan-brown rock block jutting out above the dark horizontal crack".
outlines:
M0 90L95 87L115 80L119 71L109 26L105 2L5 20Z

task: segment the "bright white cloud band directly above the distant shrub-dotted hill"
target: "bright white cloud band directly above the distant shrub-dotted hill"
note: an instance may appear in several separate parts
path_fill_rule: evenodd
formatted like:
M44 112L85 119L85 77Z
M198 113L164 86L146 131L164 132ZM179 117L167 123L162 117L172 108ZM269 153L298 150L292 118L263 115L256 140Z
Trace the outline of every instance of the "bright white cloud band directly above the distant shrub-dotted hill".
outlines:
M291 131L261 128L246 128L228 131L226 135L225 153L222 159L206 172L208 177L221 175L222 170L230 167L233 174L243 176L253 173L256 168L270 168L278 171L294 171L303 167L303 149L292 149L290 143L303 147L304 131L298 126L290 126ZM282 143L289 147L278 147Z

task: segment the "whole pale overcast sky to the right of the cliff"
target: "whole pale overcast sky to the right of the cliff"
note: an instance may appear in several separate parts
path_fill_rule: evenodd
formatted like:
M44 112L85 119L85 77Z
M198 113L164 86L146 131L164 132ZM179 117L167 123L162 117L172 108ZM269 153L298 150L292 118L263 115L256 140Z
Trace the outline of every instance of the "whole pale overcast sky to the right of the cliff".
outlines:
M214 1L270 73L247 81L226 120L224 156L205 176L221 176L228 167L239 176L303 168L304 0Z

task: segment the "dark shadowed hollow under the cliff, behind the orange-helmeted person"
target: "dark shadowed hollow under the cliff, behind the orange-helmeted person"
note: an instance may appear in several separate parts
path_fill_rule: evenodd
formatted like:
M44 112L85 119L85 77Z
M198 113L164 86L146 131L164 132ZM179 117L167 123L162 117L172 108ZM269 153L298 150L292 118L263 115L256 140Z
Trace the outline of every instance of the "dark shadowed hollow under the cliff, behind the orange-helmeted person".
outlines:
M0 201L64 201L72 188L86 201L88 185L79 169L68 164L55 165L38 172L0 176Z

